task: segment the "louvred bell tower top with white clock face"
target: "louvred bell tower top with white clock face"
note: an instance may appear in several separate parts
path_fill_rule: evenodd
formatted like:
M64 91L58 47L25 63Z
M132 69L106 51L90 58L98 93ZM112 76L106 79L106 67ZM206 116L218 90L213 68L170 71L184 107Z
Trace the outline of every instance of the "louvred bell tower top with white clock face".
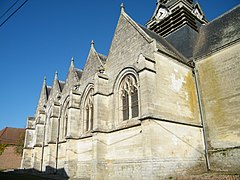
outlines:
M158 0L146 25L151 31L166 37L184 25L198 32L199 27L206 23L201 7L193 0Z

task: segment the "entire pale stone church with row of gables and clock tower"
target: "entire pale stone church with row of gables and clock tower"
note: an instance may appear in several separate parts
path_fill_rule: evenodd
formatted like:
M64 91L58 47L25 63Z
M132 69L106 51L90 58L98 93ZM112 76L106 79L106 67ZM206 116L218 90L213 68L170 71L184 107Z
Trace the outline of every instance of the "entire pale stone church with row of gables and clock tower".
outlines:
M109 50L44 79L21 168L83 179L240 171L240 5L208 22L158 0L145 26L121 6Z

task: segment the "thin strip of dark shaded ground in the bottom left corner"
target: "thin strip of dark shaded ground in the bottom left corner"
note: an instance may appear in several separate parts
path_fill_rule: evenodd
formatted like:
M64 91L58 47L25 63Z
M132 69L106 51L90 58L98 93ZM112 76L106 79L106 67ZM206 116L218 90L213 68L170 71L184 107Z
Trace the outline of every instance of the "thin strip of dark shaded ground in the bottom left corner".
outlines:
M38 177L38 176L31 176L27 174L16 174L11 172L0 172L0 179L9 179L9 180L18 180L18 179L24 179L24 180L43 180L46 178Z

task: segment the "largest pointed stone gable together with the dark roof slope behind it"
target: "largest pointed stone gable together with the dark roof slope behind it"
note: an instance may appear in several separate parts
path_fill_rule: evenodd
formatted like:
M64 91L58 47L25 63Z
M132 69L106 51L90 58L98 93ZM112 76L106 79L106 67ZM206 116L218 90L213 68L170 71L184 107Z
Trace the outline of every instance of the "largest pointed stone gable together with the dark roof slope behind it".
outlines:
M184 61L184 56L163 37L137 24L122 10L109 51L106 71L109 76L115 76L119 70L136 63L141 53L154 59L153 52L156 49Z

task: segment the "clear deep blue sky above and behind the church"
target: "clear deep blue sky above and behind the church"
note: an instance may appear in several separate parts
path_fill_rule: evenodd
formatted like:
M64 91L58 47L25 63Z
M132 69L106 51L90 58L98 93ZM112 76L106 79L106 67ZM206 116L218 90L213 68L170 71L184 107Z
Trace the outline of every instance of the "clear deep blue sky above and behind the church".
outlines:
M15 1L0 1L0 17ZM122 2L140 24L156 5L156 0L29 0L0 27L0 129L25 127L27 116L35 113L44 75L48 85L56 70L65 80L71 57L83 69L92 39L99 53L108 54ZM198 2L212 20L240 0Z

